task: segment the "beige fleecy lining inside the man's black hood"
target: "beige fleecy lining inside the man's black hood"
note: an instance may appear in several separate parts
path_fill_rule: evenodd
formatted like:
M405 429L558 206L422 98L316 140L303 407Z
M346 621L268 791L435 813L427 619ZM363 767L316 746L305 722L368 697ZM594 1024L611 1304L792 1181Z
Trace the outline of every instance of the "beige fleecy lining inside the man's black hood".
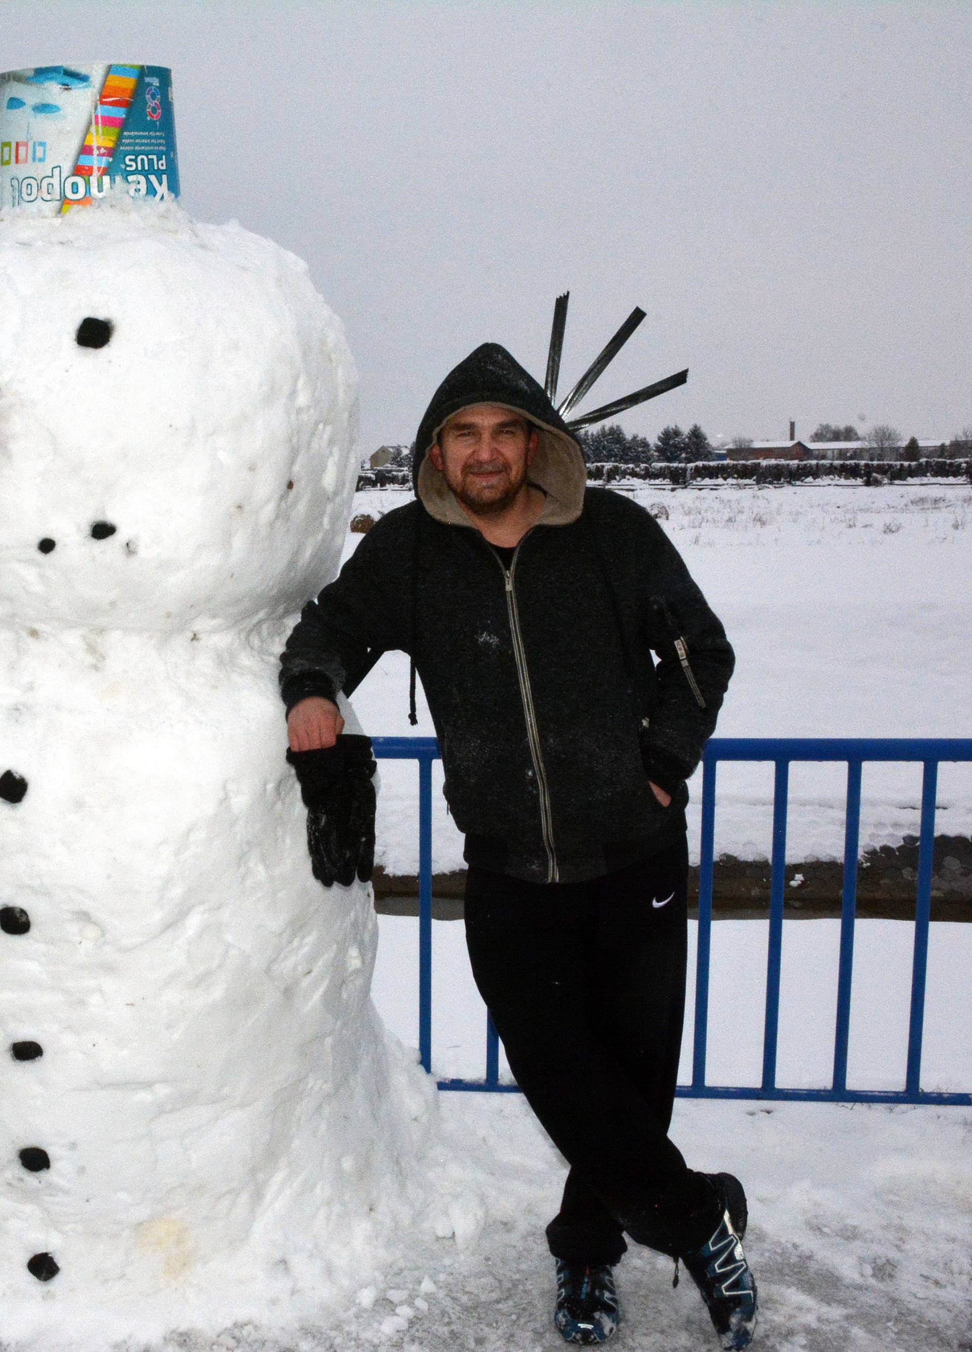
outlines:
M481 403L481 400L477 402ZM493 400L489 400L489 403L493 403ZM464 404L464 407L475 408L476 406ZM584 488L587 485L587 465L584 464L584 457L580 453L577 442L570 437L565 437L557 427L549 427L546 423L530 418L529 414L525 414L522 408L516 408L515 404L496 403L496 407L510 408L511 412L526 418L539 434L537 453L533 457L527 476L531 484L542 488L546 493L537 525L568 526L580 516L584 506ZM449 418L454 418L461 411L461 408L454 408L449 414ZM449 418L443 418L435 429L433 442L445 423L449 422ZM429 515L434 516L435 521L445 522L447 526L473 526L475 529L475 523L462 510L456 493L429 458L429 449L426 448L422 465L419 466L419 499Z

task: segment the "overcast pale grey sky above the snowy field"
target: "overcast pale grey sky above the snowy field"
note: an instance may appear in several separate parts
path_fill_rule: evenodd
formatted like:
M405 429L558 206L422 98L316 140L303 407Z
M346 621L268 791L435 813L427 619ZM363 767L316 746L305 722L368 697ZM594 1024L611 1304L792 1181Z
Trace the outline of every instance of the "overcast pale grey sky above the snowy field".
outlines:
M972 423L972 4L5 0L0 70L172 66L183 204L308 260L411 441L487 339L629 431Z

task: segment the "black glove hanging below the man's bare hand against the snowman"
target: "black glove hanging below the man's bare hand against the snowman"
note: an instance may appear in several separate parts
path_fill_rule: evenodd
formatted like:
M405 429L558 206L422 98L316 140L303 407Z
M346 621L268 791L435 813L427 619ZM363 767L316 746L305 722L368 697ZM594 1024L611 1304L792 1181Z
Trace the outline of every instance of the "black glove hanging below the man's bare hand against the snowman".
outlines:
M307 849L314 876L324 887L369 882L374 867L374 783L372 740L342 733L334 746L293 752L287 760L307 806Z

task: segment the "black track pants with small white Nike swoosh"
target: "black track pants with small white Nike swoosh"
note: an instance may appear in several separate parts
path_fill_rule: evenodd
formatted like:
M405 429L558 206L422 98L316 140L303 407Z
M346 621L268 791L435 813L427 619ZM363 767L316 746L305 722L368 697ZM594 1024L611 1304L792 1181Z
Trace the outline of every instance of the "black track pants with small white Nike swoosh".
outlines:
M668 1138L685 1007L685 837L587 883L470 865L473 976L516 1083L570 1165L550 1252L616 1263L618 1215L679 1220L711 1192ZM658 1244L661 1248L662 1245Z

